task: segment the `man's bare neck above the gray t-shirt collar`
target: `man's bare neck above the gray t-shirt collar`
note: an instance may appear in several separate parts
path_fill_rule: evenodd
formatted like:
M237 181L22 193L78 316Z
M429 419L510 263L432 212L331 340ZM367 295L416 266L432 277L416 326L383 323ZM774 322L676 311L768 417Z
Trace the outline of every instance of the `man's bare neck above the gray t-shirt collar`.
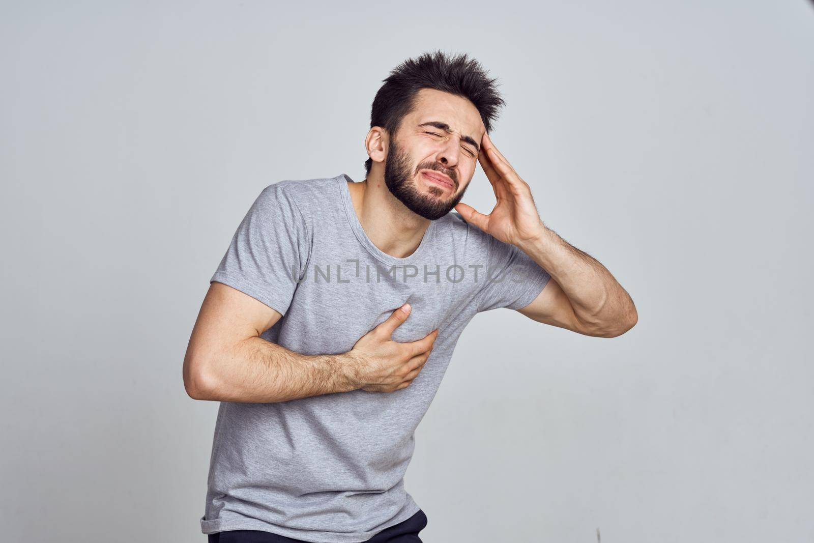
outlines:
M359 223L376 247L396 258L415 252L431 221L396 199L383 176L371 172L365 181L348 183L348 190Z

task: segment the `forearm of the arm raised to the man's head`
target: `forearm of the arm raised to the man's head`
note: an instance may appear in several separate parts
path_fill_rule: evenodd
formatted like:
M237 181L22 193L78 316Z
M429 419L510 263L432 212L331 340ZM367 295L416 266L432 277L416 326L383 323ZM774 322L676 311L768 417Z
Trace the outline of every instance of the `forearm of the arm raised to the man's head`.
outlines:
M610 271L554 230L543 225L539 236L518 247L551 274L587 328L626 331L636 322L633 300Z

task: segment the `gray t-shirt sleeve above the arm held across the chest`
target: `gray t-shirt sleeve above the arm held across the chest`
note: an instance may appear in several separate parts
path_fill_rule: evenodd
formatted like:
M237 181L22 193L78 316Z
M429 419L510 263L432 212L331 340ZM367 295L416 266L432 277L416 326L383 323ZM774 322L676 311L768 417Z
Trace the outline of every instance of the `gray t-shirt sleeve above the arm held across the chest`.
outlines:
M307 226L279 184L260 192L209 282L260 300L285 315L309 256Z

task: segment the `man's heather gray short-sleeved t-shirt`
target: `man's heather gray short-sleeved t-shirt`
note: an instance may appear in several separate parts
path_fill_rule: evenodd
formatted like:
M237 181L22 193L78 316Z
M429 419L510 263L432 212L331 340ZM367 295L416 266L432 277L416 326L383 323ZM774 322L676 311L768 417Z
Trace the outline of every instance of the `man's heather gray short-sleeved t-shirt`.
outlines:
M307 355L346 353L401 304L392 335L435 347L407 388L291 401L223 401L217 414L202 532L262 530L302 541L351 543L414 515L405 490L414 431L435 396L458 336L475 313L519 309L549 274L514 245L449 212L413 254L396 258L365 234L348 182L336 177L265 187L211 282L282 314L261 337Z

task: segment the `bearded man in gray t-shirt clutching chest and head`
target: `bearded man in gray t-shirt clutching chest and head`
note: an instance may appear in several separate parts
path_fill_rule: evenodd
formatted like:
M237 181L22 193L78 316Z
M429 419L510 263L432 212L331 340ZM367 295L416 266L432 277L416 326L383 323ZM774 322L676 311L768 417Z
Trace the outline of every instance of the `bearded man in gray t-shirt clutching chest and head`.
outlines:
M210 541L421 541L404 475L470 319L505 307L599 337L637 322L489 138L494 81L466 55L405 61L374 99L363 182L287 180L252 204L184 360L188 394L221 402ZM478 163L488 215L460 202Z

